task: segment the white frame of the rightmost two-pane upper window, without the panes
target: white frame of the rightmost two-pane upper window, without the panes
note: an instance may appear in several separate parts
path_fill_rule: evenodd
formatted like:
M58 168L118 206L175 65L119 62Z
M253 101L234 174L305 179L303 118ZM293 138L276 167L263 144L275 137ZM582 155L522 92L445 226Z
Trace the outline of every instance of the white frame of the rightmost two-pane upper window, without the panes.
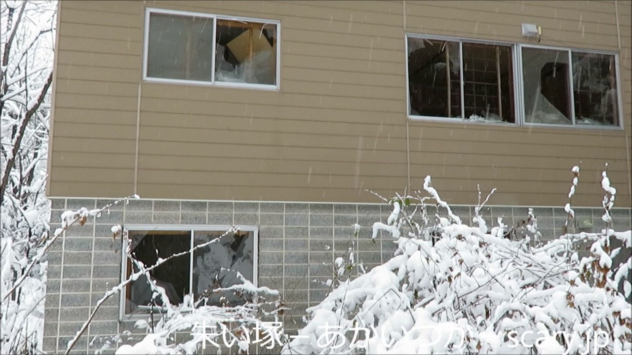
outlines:
M571 105L571 122L573 124L552 124L552 123L536 123L536 122L526 122L526 112L525 112L525 95L522 92L524 88L524 83L520 81L520 90L521 94L518 97L521 101L521 112L520 117L522 119L523 126L533 126L533 127L551 127L551 128L573 128L573 129L604 129L609 131L621 131L623 130L623 103L621 102L621 68L619 68L619 53L612 51L599 51L599 50L591 50L591 49L575 49L569 47L557 47L552 45L538 45L538 44L520 44L518 56L520 57L520 77L523 76L522 67L522 49L523 48L534 48L534 49L549 49L551 51L561 51L567 52L568 54L568 68L569 68L569 80L568 80L568 89L570 92L570 105ZM573 90L573 52L581 52L581 53L591 53L591 54L607 54L609 56L614 56L614 75L616 75L617 81L617 124L613 126L593 126L591 124L577 124L575 122L575 98L574 98L574 90Z

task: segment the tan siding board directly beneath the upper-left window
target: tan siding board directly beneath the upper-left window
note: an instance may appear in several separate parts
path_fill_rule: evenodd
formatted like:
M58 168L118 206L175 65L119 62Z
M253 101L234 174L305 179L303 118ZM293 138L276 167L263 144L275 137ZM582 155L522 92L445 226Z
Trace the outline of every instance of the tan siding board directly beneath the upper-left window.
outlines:
M375 87L375 90L379 90ZM387 90L382 88L382 90ZM325 107L349 109L358 111L399 111L404 99L364 99L359 97L340 97L335 95L305 95L300 93L279 93L273 91L253 92L252 95L243 95L241 92L224 90L215 87L188 87L185 90L173 90L171 85L143 85L142 88L143 107L145 105L157 105L169 107L178 102L185 105L204 105L207 107L210 102L233 102L248 105L284 105L300 107ZM155 99L161 99L155 102ZM154 100L154 101L150 101ZM153 107L153 106L152 106Z

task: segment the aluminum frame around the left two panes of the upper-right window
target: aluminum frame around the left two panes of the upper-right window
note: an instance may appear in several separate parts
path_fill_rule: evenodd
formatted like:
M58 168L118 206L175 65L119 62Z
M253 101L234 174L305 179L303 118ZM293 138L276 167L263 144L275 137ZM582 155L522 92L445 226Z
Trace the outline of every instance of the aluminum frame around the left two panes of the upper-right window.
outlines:
M444 35L427 35L421 33L410 33L407 32L404 35L405 38L405 51L406 51L406 117L411 121L432 121L432 122L442 122L442 123L465 123L465 124L489 124L492 126L520 126L520 116L518 113L518 100L516 99L516 68L515 65L515 57L516 57L516 45L511 42L501 41L501 40L484 40L484 39L466 39L463 37L452 37L452 36L444 36ZM434 117L434 116L416 116L410 114L410 73L408 71L408 39L428 39L428 40L444 40L449 42L457 42L459 44L459 89L461 91L461 118L458 117ZM465 97L463 95L463 91L465 89L465 82L463 81L463 42L466 43L474 43L474 44L486 44L486 45L501 45L504 47L509 47L511 49L512 56L512 69L513 75L512 78L514 80L514 122L507 123L495 123L495 122L483 122L483 121L466 121L465 119Z

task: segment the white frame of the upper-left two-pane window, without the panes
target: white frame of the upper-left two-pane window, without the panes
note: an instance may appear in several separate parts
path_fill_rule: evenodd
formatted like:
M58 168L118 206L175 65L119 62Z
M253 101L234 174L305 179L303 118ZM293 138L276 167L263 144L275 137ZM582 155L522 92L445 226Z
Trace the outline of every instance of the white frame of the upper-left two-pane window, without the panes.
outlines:
M184 79L169 79L169 78L153 78L147 76L147 61L149 60L149 18L152 13L161 13L165 15L179 15L179 16L195 16L203 18L212 18L213 20L213 49L211 54L211 81L199 81L199 80L184 80ZM217 20L232 20L232 21L244 21L255 22L264 24L276 25L276 84L253 84L253 83L233 83L226 81L215 80L215 56L216 56L216 44L217 44ZM172 84L185 84L185 85L202 85L202 86L216 86L216 87L232 87L232 88L250 88L258 90L275 90L281 89L281 21L269 20L264 18L251 18L242 16L227 16L227 15L214 15L209 13L198 13L193 11L179 11L171 9L160 8L145 8L145 28L143 29L143 68L142 68L143 81L152 83L172 83Z

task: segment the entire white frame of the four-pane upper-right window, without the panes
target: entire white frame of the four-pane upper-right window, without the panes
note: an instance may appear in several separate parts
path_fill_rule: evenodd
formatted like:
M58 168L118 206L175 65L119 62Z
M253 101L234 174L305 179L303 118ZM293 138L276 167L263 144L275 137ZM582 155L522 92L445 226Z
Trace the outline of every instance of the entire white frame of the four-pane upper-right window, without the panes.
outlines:
M406 117L411 121L433 121L442 123L465 123L465 124L491 124L494 126L530 126L538 128L566 128L566 129L597 129L607 131L623 131L623 102L621 97L621 65L619 64L619 53L615 51L602 51L592 49L578 49L573 47L556 47L552 45L538 45L538 44L520 44L495 40L480 40L480 39L468 39L463 37L451 37L442 35L425 35L420 33L406 33L405 34L405 51L406 51ZM434 116L414 116L410 114L410 81L408 73L408 39L429 39L429 40L445 40L451 42L458 42L459 44L459 65L460 77L461 77L461 118L456 117L434 117ZM513 87L514 87L514 123L492 123L483 121L466 121L465 120L465 98L463 97L463 43L478 43L489 45L504 45L511 47L511 55L513 61ZM607 54L614 56L615 60L615 75L617 80L617 125L616 126L593 126L590 124L576 124L575 123L575 107L573 97L573 80L569 80L569 88L571 90L571 114L573 116L573 124L549 124L549 123L527 123L525 121L525 96L524 96L524 83L523 83L523 66L522 66L522 49L523 48L538 48L538 49L551 49L554 51L567 51L569 59L569 68L572 71L573 52L594 53L594 54ZM572 73L571 73L572 75Z

